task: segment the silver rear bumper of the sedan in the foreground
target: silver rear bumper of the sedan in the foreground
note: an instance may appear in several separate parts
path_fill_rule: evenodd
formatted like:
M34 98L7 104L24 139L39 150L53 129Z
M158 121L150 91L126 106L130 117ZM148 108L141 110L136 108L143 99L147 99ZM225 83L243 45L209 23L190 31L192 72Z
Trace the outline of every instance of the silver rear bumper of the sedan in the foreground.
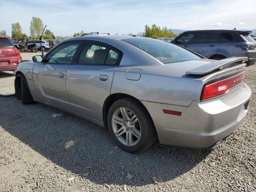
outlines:
M236 94L236 96L234 96ZM222 98L188 107L142 101L155 124L160 143L190 148L211 148L243 122L248 111L251 90L246 84L239 92L230 90ZM164 114L163 109L182 112L181 116Z

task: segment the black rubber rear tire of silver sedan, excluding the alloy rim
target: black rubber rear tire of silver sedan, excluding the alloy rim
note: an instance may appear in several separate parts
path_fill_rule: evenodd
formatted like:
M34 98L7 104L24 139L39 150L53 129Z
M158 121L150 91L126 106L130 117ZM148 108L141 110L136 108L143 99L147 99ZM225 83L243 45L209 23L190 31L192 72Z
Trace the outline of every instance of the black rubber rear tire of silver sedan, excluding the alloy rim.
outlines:
M132 110L134 114L137 116L139 122L140 122L140 130L141 130L141 137L137 144L134 146L127 146L122 144L114 134L114 130L112 128L112 116L114 112L118 108L128 108L129 110ZM114 142L122 148L122 150L125 150L130 153L138 153L143 150L146 150L148 147L150 147L157 138L156 129L154 126L154 123L150 117L150 114L146 110L146 108L137 100L132 98L122 98L120 100L117 100L112 104L108 111L108 130L110 133L110 136L114 140Z

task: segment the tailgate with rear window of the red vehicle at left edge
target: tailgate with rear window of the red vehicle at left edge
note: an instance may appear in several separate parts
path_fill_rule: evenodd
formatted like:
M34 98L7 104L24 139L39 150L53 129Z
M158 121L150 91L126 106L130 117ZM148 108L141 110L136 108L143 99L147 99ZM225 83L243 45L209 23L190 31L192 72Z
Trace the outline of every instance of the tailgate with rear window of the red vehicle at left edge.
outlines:
M0 38L0 66L18 63L15 48L10 39Z

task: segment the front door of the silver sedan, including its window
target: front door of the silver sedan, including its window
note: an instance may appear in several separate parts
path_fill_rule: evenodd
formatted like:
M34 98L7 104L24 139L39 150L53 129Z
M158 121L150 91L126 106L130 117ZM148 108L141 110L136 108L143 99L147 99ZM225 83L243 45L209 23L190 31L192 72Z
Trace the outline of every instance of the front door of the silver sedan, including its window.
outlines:
M40 100L70 109L66 92L66 71L74 62L81 41L61 44L33 68L34 86Z

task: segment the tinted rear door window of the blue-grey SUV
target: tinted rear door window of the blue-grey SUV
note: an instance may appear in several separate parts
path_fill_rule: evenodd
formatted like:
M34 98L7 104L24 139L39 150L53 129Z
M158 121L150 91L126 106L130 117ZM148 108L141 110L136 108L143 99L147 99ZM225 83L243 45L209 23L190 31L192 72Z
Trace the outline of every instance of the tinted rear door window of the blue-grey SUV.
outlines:
M214 31L198 31L196 32L192 43L214 43L219 42L218 32Z

